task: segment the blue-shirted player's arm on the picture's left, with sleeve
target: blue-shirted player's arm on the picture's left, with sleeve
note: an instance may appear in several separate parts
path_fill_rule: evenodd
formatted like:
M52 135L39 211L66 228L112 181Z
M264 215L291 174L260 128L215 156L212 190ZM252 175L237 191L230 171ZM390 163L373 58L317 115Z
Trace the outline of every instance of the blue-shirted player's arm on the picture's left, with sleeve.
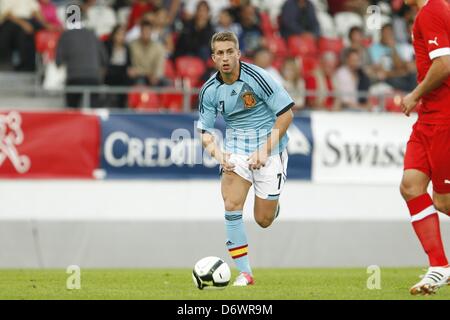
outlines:
M206 90L205 90L206 91ZM202 145L211 157L217 160L226 172L233 171L234 165L229 163L229 154L224 153L212 134L217 117L217 109L207 92L200 92L199 119L197 129L200 131Z

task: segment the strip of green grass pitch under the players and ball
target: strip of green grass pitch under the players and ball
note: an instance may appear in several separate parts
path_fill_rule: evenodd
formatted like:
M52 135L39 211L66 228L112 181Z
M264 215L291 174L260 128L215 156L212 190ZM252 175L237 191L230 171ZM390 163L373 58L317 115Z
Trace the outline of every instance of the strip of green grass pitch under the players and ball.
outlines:
M256 284L224 290L198 290L189 269L82 269L81 289L68 290L65 270L0 270L0 299L446 299L413 297L409 287L420 268L382 268L381 289L367 289L366 269L255 269ZM233 271L233 278L236 271Z

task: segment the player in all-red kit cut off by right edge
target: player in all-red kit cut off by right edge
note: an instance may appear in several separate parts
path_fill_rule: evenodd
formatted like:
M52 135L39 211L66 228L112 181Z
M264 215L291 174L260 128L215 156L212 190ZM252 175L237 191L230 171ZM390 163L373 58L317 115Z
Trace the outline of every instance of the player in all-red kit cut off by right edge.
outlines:
M437 210L450 214L450 5L446 0L405 0L417 6L413 45L419 85L402 101L419 119L408 141L400 191L430 268L411 294L432 294L447 285L450 268ZM427 187L433 183L433 198Z

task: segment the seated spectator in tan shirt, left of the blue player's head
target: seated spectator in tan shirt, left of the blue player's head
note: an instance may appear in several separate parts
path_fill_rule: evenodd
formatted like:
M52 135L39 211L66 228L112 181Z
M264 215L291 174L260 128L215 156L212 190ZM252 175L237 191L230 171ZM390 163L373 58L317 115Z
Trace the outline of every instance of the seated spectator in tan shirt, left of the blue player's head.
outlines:
M130 44L132 77L137 84L165 86L164 78L166 50L157 40L152 39L153 27L148 21L141 22L141 36Z

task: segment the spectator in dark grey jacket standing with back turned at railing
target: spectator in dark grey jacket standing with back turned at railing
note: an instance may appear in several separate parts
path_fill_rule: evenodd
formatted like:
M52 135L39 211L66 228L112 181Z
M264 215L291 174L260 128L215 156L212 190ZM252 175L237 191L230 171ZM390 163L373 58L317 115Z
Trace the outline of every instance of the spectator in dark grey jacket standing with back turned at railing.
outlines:
M57 66L67 68L67 86L98 86L107 64L107 54L95 33L81 26L68 25L59 39L56 49ZM67 93L66 106L79 108L81 93ZM91 95L91 107L98 107L98 95Z

